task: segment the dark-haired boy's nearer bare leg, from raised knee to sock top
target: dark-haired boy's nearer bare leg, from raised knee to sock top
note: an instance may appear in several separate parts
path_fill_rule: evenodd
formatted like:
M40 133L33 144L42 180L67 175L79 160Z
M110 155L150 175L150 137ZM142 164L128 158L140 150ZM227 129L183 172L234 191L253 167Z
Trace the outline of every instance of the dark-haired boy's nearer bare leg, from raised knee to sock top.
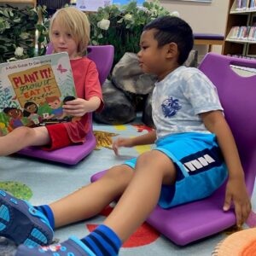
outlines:
M176 169L166 154L153 150L137 159L135 174L104 224L125 241L156 206L162 183L175 183Z

